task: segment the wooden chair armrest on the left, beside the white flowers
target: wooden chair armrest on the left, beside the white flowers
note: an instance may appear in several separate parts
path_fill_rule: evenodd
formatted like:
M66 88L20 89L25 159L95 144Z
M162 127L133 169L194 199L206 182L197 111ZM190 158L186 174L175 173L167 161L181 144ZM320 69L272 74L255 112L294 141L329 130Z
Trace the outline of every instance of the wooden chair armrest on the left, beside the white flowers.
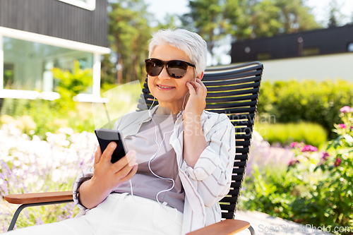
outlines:
M49 203L62 200L73 200L72 191L49 193L9 194L5 200L11 204Z

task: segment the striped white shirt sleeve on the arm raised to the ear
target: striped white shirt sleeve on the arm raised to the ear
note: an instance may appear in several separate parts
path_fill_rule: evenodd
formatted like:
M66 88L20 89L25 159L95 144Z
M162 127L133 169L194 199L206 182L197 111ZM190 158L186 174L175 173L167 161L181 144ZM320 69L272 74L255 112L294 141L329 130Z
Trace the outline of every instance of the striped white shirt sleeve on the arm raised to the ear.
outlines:
M201 153L195 167L186 165L186 174L196 186L205 206L211 207L229 192L235 157L235 131L225 114L220 114L213 126L208 126L205 121L203 130L208 147ZM208 130L207 133L205 130Z

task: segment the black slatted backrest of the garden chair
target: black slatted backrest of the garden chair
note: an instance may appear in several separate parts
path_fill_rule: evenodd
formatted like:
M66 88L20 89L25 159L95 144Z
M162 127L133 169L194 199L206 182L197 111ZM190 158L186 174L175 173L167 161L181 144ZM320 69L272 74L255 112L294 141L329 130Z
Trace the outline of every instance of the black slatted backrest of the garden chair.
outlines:
M234 218L241 183L244 180L262 72L263 64L255 61L239 66L207 68L203 76L202 81L208 90L205 110L227 114L235 127L237 149L231 189L220 201L224 219ZM146 104L147 108L150 108L153 102L147 78L143 86L138 110L146 109ZM157 104L156 100L153 105Z

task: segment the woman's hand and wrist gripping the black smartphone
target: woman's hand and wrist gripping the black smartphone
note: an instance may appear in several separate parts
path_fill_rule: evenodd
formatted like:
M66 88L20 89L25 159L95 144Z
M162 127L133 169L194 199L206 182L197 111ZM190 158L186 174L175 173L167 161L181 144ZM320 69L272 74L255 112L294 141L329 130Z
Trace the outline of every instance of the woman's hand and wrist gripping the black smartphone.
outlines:
M115 148L116 143L111 142L102 153L98 146L93 176L79 188L80 203L89 209L102 203L116 186L130 180L136 174L138 168L136 152L128 151L125 157L112 164L111 158Z

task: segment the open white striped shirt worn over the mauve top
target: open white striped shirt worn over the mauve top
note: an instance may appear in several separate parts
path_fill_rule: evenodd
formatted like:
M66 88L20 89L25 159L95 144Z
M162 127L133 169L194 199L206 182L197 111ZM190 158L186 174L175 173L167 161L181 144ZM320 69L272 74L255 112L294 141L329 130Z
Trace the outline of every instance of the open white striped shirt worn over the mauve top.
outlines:
M151 109L153 114L157 107ZM148 110L131 112L122 116L114 126L124 138L136 135L142 123L150 121ZM177 156L179 177L185 191L183 232L190 231L219 222L221 210L219 201L227 195L232 180L232 168L235 157L234 126L225 114L203 111L201 126L208 143L194 167L184 161L184 119L179 112L174 123L174 131L169 144ZM73 186L73 200L81 210L88 210L80 205L77 192L81 183L90 179L94 169L80 174Z

